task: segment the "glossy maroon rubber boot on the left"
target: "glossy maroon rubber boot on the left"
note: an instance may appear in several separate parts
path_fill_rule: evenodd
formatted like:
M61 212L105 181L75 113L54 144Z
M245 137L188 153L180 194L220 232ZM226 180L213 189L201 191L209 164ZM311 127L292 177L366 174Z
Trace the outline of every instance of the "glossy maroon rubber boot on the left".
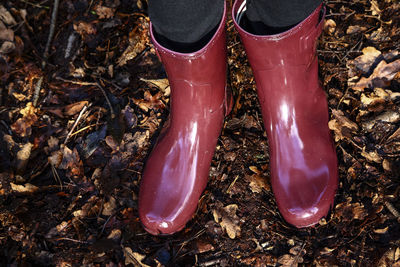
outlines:
M226 91L226 7L209 43L194 53L152 42L171 86L170 118L143 172L139 216L151 234L181 230L196 211L206 187L223 120L231 107Z

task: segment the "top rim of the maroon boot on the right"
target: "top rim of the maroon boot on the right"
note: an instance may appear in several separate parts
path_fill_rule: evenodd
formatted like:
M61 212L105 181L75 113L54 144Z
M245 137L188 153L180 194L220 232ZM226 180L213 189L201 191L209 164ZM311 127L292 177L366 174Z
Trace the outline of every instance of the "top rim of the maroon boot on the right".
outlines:
M245 29L243 29L239 25L240 21L237 20L238 17L241 16L241 14L239 14L239 12L240 12L239 9L243 8L244 3L246 3L246 0L236 0L235 1L235 3L233 4L233 7L232 7L232 21L235 24L236 30L240 34L246 35L248 38L251 38L253 40L279 41L282 39L289 38L289 37L297 34L298 32L302 31L303 29L305 29L306 31L322 29L322 25L323 25L325 13L326 13L326 8L325 8L324 4L321 3L307 18L305 18L303 21L301 21L296 26L290 28L287 31L277 33L277 34L271 34L271 35L256 35L256 34L252 34L248 31L246 31ZM244 10L242 10L241 13L243 11ZM315 27L313 27L310 24L315 16L319 16L321 11L322 11L321 20L315 25Z

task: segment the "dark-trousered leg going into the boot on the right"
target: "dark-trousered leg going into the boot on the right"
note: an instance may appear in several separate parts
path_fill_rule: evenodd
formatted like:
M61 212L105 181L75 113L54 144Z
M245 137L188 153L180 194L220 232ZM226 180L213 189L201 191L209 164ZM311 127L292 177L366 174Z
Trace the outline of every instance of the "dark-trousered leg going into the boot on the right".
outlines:
M275 34L290 29L308 17L322 0L247 0L247 30Z

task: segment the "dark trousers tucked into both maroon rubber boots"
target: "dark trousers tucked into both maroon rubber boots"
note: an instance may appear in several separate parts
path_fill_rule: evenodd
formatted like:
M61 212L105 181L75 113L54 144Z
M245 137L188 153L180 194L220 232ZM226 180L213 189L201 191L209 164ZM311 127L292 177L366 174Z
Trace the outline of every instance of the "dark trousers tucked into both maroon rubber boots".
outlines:
M212 37L225 0L149 0L149 16L156 38L167 48L196 51ZM296 25L322 0L247 0L248 30L273 34Z

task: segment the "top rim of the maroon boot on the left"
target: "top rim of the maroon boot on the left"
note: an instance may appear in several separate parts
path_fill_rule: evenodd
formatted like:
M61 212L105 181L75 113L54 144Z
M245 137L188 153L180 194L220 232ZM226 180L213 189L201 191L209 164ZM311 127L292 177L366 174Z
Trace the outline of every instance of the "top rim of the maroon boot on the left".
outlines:
M205 53L207 53L210 49L212 49L212 47L217 42L218 38L223 34L223 32L225 30L225 21L226 21L226 13L227 13L226 9L227 9L226 1L224 1L224 10L223 10L222 18L221 18L221 21L219 22L217 30L215 31L211 40L203 48L201 48L200 50L197 50L195 52L189 52L189 53L176 52L176 51L170 50L170 49L162 46L156 40L156 38L154 36L153 24L150 22L150 26L149 26L150 38L151 38L151 41L152 41L154 47L156 48L157 53L162 53L165 55L170 55L173 57L179 57L179 58L183 58L183 59L196 59L196 58L202 57Z

